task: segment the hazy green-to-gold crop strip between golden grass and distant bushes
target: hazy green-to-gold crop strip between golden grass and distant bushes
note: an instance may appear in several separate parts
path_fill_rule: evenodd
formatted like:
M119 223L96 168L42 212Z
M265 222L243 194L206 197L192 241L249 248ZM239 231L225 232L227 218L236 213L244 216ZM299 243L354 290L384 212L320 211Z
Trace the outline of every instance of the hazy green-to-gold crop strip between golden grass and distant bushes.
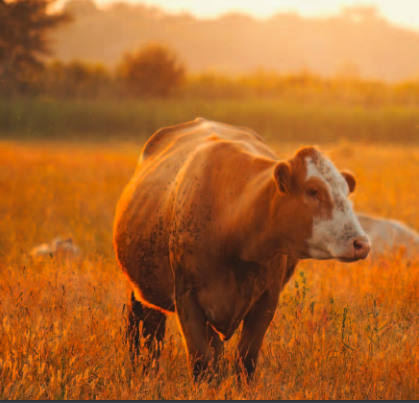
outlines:
M243 100L0 100L0 138L136 139L198 116L248 126L271 141L419 144L417 106Z

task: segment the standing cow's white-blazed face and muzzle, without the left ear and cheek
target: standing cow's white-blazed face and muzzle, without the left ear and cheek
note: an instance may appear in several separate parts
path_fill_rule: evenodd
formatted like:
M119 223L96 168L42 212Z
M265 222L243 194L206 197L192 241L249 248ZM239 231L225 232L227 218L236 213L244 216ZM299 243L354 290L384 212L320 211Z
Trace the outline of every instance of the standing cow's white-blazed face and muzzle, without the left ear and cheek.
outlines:
M320 153L305 157L305 165L304 197L313 211L309 256L344 262L364 259L371 245L348 200L355 188L353 176L338 172Z

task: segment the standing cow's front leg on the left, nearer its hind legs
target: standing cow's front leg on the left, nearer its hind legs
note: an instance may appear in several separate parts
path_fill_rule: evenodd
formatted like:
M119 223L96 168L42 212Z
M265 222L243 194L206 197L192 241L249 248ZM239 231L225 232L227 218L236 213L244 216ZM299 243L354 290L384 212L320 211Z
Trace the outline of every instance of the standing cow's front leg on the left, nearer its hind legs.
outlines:
M188 363L194 380L200 380L210 362L217 362L222 346L218 335L208 328L193 288L182 281L175 286L176 314L185 339Z

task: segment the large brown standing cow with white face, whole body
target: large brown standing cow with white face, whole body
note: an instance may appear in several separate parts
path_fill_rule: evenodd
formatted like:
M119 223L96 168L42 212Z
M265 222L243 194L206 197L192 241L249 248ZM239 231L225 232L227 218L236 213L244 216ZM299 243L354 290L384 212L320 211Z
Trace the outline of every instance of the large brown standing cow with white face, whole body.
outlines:
M197 118L157 131L114 222L117 261L133 289L131 356L142 321L157 358L166 315L175 313L199 380L242 324L237 368L250 381L298 261L367 257L370 242L348 200L355 186L317 148L279 161L248 128Z

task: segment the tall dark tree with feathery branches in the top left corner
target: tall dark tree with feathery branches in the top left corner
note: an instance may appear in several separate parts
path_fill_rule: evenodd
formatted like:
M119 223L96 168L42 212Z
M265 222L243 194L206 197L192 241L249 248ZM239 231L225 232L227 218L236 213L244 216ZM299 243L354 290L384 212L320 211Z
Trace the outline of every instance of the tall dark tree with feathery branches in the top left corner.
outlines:
M50 13L54 0L0 0L0 80L19 87L42 68L51 53L48 33L71 21L67 13Z

